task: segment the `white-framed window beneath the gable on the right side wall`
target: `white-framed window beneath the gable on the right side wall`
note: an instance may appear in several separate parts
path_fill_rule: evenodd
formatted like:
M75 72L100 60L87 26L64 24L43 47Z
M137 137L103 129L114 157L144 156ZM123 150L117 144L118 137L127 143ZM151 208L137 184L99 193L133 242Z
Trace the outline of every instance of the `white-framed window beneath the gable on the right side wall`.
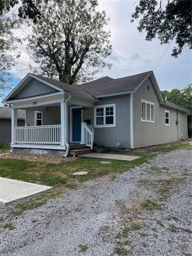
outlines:
M141 121L154 122L155 104L146 100L141 100Z

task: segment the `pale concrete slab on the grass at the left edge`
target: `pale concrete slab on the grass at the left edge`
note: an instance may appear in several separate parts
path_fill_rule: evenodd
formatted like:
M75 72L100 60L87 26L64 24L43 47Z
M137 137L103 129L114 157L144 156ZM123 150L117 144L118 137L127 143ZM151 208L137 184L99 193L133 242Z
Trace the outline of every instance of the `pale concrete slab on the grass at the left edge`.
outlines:
M7 206L21 198L35 195L51 187L0 177L0 205Z

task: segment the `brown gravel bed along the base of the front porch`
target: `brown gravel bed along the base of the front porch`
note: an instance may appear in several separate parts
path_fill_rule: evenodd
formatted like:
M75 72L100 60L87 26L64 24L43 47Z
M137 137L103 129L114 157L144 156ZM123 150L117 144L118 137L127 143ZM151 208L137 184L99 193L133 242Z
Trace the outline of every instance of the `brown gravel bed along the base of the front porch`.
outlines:
M21 160L33 161L33 162L38 161L38 162L47 162L47 163L55 163L55 164L59 164L61 162L69 162L77 159L72 157L63 158L63 157L55 157L55 156L12 154L12 153L0 154L0 158L12 158L12 159L21 159Z

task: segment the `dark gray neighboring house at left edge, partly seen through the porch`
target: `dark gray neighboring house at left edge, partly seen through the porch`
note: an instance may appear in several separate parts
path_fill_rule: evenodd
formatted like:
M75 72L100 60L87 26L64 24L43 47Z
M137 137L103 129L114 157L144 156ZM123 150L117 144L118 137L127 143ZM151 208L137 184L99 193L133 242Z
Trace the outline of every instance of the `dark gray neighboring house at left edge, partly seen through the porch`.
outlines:
M25 124L25 111L18 110L18 126ZM9 106L0 107L0 142L9 143L12 141L12 108Z

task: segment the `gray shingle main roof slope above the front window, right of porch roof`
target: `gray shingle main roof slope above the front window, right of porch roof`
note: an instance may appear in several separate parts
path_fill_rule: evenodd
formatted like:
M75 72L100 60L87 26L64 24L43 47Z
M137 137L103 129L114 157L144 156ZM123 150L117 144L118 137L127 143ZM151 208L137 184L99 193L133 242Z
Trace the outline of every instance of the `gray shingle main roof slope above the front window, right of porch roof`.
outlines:
M78 85L92 96L133 91L140 85L152 71L113 79L105 76L95 81Z

